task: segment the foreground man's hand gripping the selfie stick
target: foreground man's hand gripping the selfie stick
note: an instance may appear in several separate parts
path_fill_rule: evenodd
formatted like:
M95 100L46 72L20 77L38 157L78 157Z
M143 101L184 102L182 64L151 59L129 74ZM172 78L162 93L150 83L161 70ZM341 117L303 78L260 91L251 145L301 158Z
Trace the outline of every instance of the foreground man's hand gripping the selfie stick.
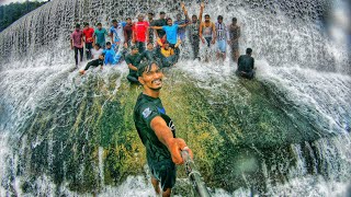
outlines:
M193 158L193 152L191 151L191 149L186 146L185 141L181 138L172 138L170 139L169 143L168 143L168 149L171 152L172 155L172 161L173 163L176 163L177 165L183 164L183 158L181 155L181 151L186 150L190 154L191 158Z

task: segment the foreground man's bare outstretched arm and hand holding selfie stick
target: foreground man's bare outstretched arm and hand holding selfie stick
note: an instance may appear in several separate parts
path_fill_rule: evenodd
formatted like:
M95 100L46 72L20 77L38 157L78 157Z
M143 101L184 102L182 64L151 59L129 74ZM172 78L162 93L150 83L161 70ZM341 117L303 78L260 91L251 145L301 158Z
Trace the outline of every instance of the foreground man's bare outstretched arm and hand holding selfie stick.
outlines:
M150 123L151 129L155 131L158 140L162 142L172 155L172 161L176 164L182 164L183 159L181 157L182 150L188 150L192 157L192 151L188 148L185 141L181 138L173 138L172 131L167 126L165 119L160 116L156 116Z

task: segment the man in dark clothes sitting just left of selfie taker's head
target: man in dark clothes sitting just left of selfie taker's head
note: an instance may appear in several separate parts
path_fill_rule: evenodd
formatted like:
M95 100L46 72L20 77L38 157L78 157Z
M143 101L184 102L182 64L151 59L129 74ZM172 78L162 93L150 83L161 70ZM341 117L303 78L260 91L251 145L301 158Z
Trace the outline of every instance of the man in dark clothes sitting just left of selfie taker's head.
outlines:
M137 77L137 71L138 71L138 65L139 65L139 48L134 45L132 46L132 51L125 57L125 62L127 63L129 68L129 74L127 76L127 80L131 83L138 84L138 77Z

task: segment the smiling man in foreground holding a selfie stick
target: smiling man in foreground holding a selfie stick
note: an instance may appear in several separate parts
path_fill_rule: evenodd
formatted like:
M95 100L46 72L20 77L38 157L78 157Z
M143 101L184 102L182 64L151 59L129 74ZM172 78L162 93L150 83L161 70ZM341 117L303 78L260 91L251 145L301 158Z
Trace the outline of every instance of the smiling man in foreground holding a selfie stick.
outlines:
M138 80L144 86L134 108L134 123L146 148L147 164L151 172L151 183L157 195L170 196L176 184L176 164L182 164L181 151L192 151L185 141L176 138L176 128L166 115L159 99L163 73L155 62L141 63Z

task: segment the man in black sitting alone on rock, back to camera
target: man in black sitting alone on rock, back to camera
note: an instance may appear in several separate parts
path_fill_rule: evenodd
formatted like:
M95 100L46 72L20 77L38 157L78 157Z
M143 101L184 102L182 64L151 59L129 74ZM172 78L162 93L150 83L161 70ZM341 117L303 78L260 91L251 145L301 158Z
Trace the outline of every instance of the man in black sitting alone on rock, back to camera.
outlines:
M246 55L241 55L238 60L238 76L247 79L253 79L254 77L254 59L252 56L252 49L247 48Z

